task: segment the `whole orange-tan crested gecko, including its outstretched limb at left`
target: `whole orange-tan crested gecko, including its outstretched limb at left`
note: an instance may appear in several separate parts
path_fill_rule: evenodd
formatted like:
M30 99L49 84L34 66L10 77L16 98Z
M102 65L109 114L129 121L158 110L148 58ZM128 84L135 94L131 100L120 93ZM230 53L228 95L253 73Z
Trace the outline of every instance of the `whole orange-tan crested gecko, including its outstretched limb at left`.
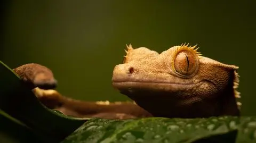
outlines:
M111 80L113 87L134 103L87 102L62 96L53 90L57 80L51 70L39 64L21 65L14 72L46 107L76 117L239 116L238 66L204 57L188 44L160 54L146 47L126 48L123 63L115 66Z

